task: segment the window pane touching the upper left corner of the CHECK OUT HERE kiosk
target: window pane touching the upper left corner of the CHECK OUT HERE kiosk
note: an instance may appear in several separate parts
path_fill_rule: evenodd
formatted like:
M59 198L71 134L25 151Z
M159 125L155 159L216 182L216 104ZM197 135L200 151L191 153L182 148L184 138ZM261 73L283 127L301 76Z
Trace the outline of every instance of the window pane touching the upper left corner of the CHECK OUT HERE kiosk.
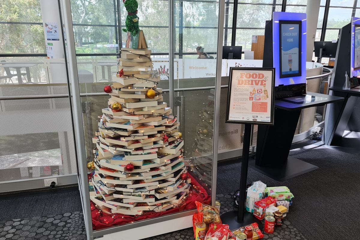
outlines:
M238 4L237 27L265 27L265 21L271 19L273 6L256 4Z

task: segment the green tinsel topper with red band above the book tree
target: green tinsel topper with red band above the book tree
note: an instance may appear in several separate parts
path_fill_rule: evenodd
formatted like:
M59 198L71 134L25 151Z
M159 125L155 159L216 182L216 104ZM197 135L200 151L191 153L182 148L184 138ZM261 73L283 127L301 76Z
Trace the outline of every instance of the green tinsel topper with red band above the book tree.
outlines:
M136 0L123 0L127 11L127 17L125 20L126 28L122 31L130 32L132 36L135 36L139 32L139 17L138 17L138 1Z

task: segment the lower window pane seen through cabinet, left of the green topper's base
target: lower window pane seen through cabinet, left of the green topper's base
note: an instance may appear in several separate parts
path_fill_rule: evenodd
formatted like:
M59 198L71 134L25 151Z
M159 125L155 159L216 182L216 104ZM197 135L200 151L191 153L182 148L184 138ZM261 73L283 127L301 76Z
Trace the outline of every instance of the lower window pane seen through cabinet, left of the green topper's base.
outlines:
M117 53L115 27L74 26L76 53Z

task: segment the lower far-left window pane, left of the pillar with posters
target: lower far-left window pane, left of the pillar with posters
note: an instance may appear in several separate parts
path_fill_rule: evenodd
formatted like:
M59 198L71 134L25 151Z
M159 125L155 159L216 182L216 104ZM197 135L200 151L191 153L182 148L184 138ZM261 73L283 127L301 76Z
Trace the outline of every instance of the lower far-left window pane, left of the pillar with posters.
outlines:
M42 24L0 24L0 33L0 53L46 53Z

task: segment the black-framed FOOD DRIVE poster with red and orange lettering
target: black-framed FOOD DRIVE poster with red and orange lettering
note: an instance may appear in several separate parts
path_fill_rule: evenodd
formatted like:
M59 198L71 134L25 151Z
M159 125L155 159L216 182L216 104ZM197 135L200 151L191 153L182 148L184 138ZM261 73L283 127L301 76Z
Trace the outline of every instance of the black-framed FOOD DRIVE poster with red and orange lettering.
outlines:
M230 68L227 123L274 125L275 68Z

